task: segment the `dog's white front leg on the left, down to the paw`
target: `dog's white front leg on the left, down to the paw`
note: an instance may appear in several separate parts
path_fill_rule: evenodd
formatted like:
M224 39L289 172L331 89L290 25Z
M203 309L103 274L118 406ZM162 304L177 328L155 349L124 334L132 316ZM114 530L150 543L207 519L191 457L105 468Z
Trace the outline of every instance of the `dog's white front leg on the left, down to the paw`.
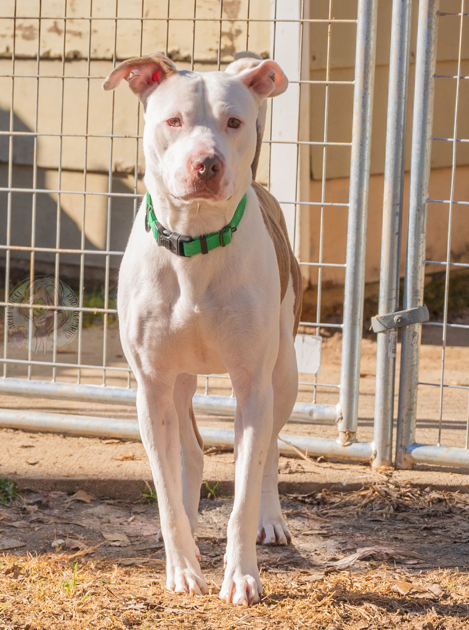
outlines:
M178 417L173 401L174 379L139 377L137 415L140 434L153 473L159 520L166 551L166 588L182 593L207 593L200 572L199 549L183 505Z

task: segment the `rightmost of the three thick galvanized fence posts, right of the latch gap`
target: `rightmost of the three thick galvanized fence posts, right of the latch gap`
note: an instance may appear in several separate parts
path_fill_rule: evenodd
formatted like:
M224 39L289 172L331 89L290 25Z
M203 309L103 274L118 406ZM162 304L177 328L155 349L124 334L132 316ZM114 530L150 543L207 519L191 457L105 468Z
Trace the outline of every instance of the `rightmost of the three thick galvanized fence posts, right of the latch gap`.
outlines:
M438 0L420 0L415 60L414 121L408 209L407 263L404 309L422 306L430 176L431 129ZM415 441L417 384L422 324L405 326L402 333L396 467L412 468L407 446Z

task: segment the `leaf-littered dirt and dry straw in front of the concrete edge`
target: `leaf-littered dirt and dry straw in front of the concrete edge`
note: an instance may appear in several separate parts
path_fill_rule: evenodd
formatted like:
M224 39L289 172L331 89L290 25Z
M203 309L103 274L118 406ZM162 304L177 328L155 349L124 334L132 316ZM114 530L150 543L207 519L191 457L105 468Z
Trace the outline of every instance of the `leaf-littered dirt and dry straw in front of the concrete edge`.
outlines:
M264 595L250 609L217 599L231 498L201 501L210 593L190 597L164 588L153 501L21 493L0 508L0 628L468 627L469 495L370 475L361 490L282 497L293 544L257 547Z

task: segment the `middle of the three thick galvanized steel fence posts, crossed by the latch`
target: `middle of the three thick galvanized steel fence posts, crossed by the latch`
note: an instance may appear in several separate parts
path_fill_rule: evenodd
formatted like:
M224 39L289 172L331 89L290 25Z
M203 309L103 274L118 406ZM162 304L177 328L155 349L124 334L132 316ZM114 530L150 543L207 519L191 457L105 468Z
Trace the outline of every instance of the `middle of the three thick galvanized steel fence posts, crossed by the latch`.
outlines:
M378 314L398 310L408 52L412 0L393 0ZM397 329L378 333L373 466L392 462Z

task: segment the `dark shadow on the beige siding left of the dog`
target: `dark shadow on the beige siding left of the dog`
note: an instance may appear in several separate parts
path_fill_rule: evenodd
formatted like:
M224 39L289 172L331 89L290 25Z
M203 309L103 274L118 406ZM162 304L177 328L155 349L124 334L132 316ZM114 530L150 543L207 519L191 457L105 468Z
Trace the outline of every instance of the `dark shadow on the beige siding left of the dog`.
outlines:
M0 130L9 130L10 112L0 108ZM16 132L31 132L32 130L23 123L23 121L14 115L13 130ZM9 178L9 135L0 135L0 186L8 187ZM58 172L56 169L34 168L35 164L35 139L32 135L16 135L13 136L13 166L12 166L12 188L37 189L37 190L57 190ZM35 174L36 171L36 174ZM71 177L73 175L73 177ZM77 179L77 175L80 176ZM36 177L36 181L34 181ZM107 181L107 173L100 175L91 175L103 178ZM69 173L62 171L62 190L74 190L68 187L69 181L72 183L79 181L79 186L83 186L83 175L81 173ZM49 185L48 185L49 182ZM54 182L54 183L53 183ZM52 186L51 186L52 183ZM94 182L93 182L94 183ZM87 186L89 192L96 189ZM105 188L105 190L106 190ZM78 188L79 190L79 188ZM102 189L101 189L102 190ZM133 193L133 189L129 188L123 181L122 177L113 176L112 192L114 193ZM56 196L55 196L56 197ZM71 212L67 212L67 200L79 205L78 220L75 221L71 217ZM32 192L13 192L11 193L11 244L16 246L31 246L32 233L34 230L35 246L40 248L55 248L57 238L57 219L60 222L59 246L66 249L81 249L81 208L83 208L83 199L86 199L86 221L90 219L93 226L93 215L88 209L91 195L83 197L82 195L64 195L62 193L61 204L57 210L57 200L54 193L37 193ZM63 200L66 199L66 202ZM96 197L95 197L96 199ZM105 243L105 230L107 224L107 198L103 197L104 218L101 239ZM35 218L33 219L33 210L35 209ZM8 192L0 191L0 244L7 243L7 214L8 214ZM111 229L110 229L110 250L124 251L127 238L132 227L134 213L134 200L131 197L112 197L111 198ZM77 214L75 213L77 217ZM104 247L99 248L91 241L95 241L93 234L88 231L88 237L84 238L84 249L91 251L100 251ZM20 282L25 278L30 269L30 252L11 250L11 282ZM4 268L6 251L0 250L0 266ZM60 277L68 280L72 285L78 284L79 265L81 256L77 253L61 253L59 258ZM117 278L117 269L120 265L120 255L110 256L110 279ZM84 255L84 276L85 284L102 284L105 280L105 260L103 255ZM35 273L38 275L54 273L55 253L37 251L35 253Z

